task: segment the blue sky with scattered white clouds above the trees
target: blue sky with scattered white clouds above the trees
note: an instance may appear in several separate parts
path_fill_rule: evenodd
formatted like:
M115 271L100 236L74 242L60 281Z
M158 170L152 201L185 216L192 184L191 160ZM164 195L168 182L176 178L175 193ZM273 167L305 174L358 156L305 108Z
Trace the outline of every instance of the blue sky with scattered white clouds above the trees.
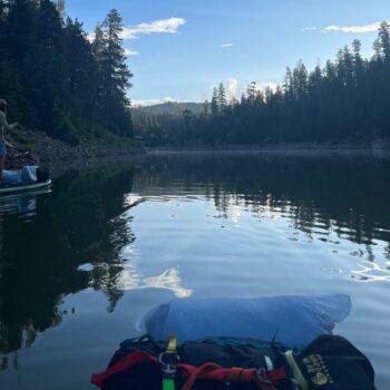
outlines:
M275 86L287 66L313 69L357 38L371 57L378 22L390 21L389 0L66 0L88 32L113 8L133 105L204 101L220 82L240 97L248 82Z

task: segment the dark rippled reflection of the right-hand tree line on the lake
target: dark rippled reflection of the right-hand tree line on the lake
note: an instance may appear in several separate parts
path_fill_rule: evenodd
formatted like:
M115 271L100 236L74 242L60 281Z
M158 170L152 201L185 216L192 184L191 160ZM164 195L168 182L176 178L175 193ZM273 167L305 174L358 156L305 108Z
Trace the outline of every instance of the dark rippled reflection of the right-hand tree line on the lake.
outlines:
M143 196L198 193L224 218L247 209L259 220L289 217L310 237L331 232L371 245L390 241L389 174L390 159L353 154L156 155L134 188Z

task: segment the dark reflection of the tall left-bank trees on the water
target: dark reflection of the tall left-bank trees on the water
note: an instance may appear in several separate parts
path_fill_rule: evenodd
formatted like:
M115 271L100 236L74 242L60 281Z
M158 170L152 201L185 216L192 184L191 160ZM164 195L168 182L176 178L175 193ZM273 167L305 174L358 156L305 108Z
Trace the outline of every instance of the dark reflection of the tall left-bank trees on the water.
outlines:
M50 197L40 199L39 212L29 223L21 223L13 213L2 215L1 352L29 347L39 332L61 322L64 298L89 286L88 275L77 271L79 264L86 260L116 263L120 250L131 243L128 224L117 216L124 211L133 175L129 167L72 173L56 183ZM113 308L121 296L116 274L114 267L99 274Z

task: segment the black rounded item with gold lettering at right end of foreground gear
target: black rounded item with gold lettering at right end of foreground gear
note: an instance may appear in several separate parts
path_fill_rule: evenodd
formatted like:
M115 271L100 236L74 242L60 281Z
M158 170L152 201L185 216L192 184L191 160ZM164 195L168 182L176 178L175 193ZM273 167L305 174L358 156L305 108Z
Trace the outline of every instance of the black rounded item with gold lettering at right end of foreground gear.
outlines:
M374 371L348 340L321 335L302 350L295 361L310 390L374 390Z

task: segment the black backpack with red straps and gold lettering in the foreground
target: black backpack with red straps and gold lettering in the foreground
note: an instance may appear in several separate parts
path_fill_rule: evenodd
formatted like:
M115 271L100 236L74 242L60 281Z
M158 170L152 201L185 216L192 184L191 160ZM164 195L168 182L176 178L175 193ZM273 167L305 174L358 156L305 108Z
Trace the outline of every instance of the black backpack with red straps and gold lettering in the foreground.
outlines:
M176 347L173 337L146 335L124 341L91 382L103 390L374 390L368 359L333 335L298 354L275 341L208 338Z

